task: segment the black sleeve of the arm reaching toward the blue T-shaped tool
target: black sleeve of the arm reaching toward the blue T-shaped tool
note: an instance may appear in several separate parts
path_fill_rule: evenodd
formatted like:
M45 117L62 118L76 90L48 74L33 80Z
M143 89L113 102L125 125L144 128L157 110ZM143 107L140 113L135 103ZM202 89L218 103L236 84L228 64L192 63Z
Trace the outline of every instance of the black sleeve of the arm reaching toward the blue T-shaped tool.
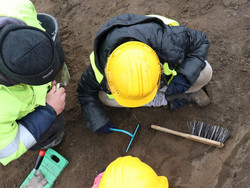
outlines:
M94 71L92 67L89 66L82 74L77 92L87 127L92 132L95 132L109 121L103 109L103 105L98 98L100 90L101 88L95 78Z

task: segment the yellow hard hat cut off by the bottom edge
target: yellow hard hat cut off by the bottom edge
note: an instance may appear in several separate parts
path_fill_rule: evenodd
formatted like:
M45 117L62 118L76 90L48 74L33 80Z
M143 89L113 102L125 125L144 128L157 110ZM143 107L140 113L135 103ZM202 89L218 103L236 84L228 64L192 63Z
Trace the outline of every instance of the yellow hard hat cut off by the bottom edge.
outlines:
M119 157L106 168L99 188L168 188L168 179L132 156Z

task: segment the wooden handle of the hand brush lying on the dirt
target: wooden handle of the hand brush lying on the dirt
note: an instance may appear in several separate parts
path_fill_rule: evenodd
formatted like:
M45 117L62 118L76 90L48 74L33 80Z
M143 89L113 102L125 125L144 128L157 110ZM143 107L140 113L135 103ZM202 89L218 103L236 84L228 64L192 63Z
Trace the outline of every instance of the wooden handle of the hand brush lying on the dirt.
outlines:
M187 134L187 133L174 131L174 130L167 129L165 127L161 127L161 126L158 126L158 125L151 125L151 128L155 129L155 130L158 130L158 131L161 131L161 132L173 134L173 135L180 136L180 137L183 137L183 138L186 138L186 139L189 139L189 140L200 142L200 143L203 143L203 144L208 144L210 146L215 146L217 148L223 148L224 147L223 143L218 142L218 141L214 141L214 140L210 140L208 138L203 138L203 137L199 137L199 136L192 135L192 134Z

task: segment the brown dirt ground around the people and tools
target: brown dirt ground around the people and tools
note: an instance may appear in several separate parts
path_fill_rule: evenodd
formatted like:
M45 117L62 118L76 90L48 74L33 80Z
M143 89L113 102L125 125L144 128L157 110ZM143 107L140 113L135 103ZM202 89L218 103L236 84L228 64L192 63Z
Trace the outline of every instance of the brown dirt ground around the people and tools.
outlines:
M69 161L55 188L90 188L98 172L117 157L133 155L167 176L170 187L249 187L250 179L250 3L249 0L34 0L38 12L55 16L71 73L65 110L67 136L55 148ZM121 133L89 132L77 99L77 83L89 65L95 33L118 14L159 14L207 33L208 61L214 74L206 90L211 104L187 105L170 113L162 108L106 108L111 120L130 132L141 125L128 153L130 138ZM158 124L188 132L186 123L201 120L230 129L224 149L156 132ZM37 152L27 152L0 166L0 187L19 187L32 170Z

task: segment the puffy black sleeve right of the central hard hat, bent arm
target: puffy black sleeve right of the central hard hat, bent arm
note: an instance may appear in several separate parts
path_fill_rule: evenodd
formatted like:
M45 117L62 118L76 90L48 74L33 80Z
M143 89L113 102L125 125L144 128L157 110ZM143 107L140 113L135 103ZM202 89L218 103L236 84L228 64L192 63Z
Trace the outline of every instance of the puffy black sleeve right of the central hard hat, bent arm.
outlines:
M150 43L161 62L172 65L190 84L206 66L209 42L203 32L185 26L166 26L150 37Z

